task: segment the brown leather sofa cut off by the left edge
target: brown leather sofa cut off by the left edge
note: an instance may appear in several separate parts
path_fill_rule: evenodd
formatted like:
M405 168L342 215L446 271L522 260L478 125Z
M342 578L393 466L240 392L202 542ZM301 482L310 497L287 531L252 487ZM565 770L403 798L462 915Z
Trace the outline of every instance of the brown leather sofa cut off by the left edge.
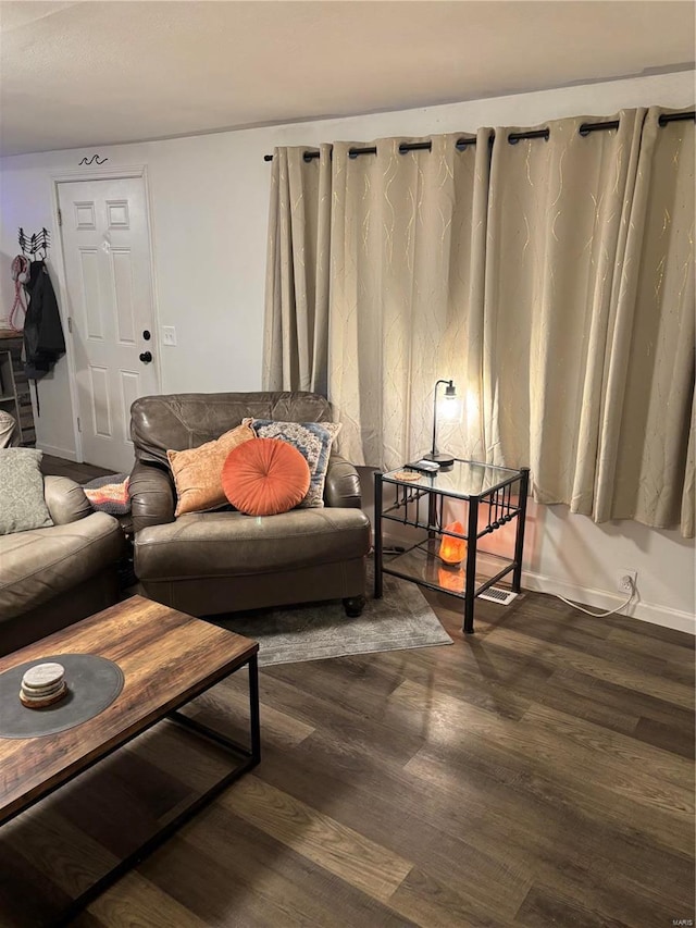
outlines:
M46 477L53 525L0 535L0 655L113 605L123 532L82 486Z

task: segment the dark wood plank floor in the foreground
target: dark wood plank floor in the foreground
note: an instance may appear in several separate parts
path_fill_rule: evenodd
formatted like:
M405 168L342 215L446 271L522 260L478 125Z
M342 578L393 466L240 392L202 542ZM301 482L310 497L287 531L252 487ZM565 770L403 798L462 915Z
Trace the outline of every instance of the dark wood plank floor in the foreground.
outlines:
M694 919L694 639L535 593L480 601L464 638L425 595L453 646L261 668L261 765L74 924ZM239 676L196 706L241 734ZM0 925L39 924L224 769L163 722L5 826Z

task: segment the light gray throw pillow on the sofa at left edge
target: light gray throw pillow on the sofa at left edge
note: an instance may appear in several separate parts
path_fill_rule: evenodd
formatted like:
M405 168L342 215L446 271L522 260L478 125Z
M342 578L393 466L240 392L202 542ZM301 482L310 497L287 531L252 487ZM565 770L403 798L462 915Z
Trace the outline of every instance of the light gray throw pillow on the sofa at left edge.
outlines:
M0 448L0 535L53 524L44 498L44 451Z

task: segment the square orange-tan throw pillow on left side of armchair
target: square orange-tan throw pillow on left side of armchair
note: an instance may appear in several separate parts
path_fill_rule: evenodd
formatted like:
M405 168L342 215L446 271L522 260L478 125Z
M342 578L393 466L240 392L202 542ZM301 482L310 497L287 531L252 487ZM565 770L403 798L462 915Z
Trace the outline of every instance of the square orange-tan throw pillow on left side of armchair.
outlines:
M222 488L222 468L233 448L256 438L246 423L225 432L214 442L184 451L167 451L176 485L175 516L185 512L206 512L227 502Z

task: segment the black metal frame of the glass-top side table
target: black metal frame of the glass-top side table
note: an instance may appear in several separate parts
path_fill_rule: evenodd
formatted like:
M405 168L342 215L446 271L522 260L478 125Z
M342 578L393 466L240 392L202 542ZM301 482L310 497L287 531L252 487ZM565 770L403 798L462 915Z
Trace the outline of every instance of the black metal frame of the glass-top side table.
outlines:
M467 461L467 463L478 462ZM492 467L493 469L495 469L494 466L481 466ZM384 477L385 475L380 471L375 472L374 475L375 598L378 599L383 595L383 573L389 573L394 577L400 577L403 580L409 580L414 583L418 582L421 585L428 587L430 590L437 590L442 593L452 594L451 590L447 590L446 587L440 586L437 583L431 583L423 579L417 580L414 577L408 573L384 566L384 544L382 537L382 521L384 518L391 519L393 521L400 522L401 524L410 525L412 528L423 529L427 531L428 540L435 537L436 535L449 535L455 539L464 540L467 541L464 593L463 595L459 595L457 593L453 593L452 595L459 596L459 598L463 598L464 617L462 630L468 634L472 634L474 631L474 601L477 596L480 596L489 586L493 586L508 573L512 573L512 591L514 593L519 593L522 589L522 554L524 549L524 524L526 520L526 498L530 485L530 469L526 467L520 468L513 477L508 478L507 480L488 487L485 492L481 494L471 494L468 496L459 496L451 491L448 492L446 488L438 488L436 486L423 486L415 485L412 483L403 483L389 478L385 480ZM519 482L520 487L518 495L518 504L514 505L512 503L512 485L517 482ZM383 511L384 483L397 487L396 503L388 510L386 510L386 512ZM401 493L400 497L399 492ZM427 525L424 525L418 518L418 508L417 518L414 520L408 519L409 504L415 503L418 507L420 499L424 497L427 497L428 503ZM458 499L468 503L469 518L465 534L458 534L457 532L447 531L443 527L443 505L445 499ZM478 508L482 504L488 506L488 522L486 527L480 531ZM407 510L403 518L388 516L388 512L398 510L402 507ZM484 583L476 586L476 553L478 540L489 534L490 532L496 531L496 529L499 529L507 522L512 521L512 519L518 520L514 540L513 560L494 577L489 578ZM415 544L411 545L411 547L408 548L406 553L408 553L409 550L413 550L414 548L422 547L422 545L423 542L417 542Z

